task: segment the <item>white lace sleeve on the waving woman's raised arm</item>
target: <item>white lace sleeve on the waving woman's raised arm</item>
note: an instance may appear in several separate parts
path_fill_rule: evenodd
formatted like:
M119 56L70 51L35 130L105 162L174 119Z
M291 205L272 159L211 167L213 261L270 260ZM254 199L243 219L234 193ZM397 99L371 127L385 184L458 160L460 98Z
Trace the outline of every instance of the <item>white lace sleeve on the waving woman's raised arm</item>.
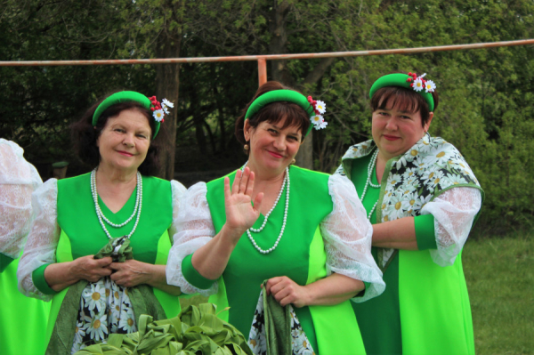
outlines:
M214 238L215 229L206 199L206 183L198 182L182 195L182 201L174 225L174 245L166 265L166 278L169 285L180 286L185 294L209 295L217 292L217 283L203 290L192 286L183 276L182 260L205 246Z

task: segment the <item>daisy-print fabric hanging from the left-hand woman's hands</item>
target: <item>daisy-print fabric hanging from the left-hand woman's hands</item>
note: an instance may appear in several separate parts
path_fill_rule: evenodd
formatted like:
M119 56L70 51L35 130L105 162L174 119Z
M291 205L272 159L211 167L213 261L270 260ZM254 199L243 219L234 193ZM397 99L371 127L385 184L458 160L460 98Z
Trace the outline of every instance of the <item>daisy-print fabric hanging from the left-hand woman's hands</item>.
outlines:
M117 251L121 246L121 238L113 242L117 244ZM113 257L116 255L114 253ZM109 334L136 332L134 308L128 289L117 285L109 277L87 284L80 298L76 324L71 353L94 343L106 343Z

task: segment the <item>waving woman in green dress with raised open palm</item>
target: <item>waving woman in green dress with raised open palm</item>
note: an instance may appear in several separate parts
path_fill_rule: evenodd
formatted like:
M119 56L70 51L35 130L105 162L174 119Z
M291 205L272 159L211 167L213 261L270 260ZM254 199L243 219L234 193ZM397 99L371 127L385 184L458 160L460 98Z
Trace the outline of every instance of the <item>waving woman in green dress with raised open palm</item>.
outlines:
M266 351L263 280L264 291L291 308L299 354L364 353L349 300L384 290L352 183L290 165L312 126L327 125L324 110L277 82L262 85L236 122L247 164L182 198L167 281L230 307L220 317L257 354Z

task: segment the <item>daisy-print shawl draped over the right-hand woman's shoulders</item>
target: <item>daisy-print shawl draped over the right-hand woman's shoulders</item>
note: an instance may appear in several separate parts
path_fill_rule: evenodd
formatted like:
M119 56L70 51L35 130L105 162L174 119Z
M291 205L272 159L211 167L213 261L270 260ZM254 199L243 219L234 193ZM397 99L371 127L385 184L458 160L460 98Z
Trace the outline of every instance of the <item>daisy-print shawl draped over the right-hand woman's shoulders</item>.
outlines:
M351 173L352 159L368 156L376 149L374 141L352 146L344 154L336 173ZM384 170L376 220L388 222L417 216L433 198L455 187L481 189L462 154L441 137L426 133L399 157L390 159ZM378 248L378 266L387 268L395 249Z

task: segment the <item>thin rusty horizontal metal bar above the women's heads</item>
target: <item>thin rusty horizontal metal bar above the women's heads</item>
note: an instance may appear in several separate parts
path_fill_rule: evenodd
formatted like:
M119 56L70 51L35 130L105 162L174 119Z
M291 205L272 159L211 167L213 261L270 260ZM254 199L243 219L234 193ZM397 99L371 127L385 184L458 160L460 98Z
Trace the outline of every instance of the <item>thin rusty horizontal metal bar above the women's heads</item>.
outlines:
M99 60L99 61L0 61L0 67L32 67L32 66L66 66L66 65L125 65L125 64L173 64L173 63L199 63L214 61L279 61L330 57L360 57L368 55L387 54L414 54L423 52L461 51L466 49L481 49L492 47L506 47L512 45L534 44L534 39L517 41L487 42L478 44L437 45L433 47L381 49L373 51L356 52L320 52L298 54L270 54L270 55L240 55L231 57L196 57L196 58L161 58L139 60Z

